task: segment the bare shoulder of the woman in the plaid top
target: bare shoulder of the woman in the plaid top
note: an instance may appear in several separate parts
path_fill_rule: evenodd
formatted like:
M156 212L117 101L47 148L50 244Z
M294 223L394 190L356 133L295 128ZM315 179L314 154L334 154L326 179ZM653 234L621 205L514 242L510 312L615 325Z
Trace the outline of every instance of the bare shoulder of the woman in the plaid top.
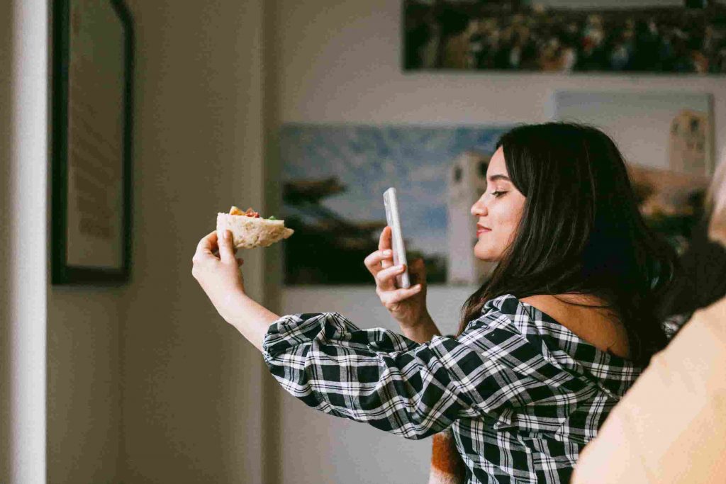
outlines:
M596 348L627 358L629 345L625 327L612 311L598 308L603 301L591 295L534 295L521 298L552 316Z

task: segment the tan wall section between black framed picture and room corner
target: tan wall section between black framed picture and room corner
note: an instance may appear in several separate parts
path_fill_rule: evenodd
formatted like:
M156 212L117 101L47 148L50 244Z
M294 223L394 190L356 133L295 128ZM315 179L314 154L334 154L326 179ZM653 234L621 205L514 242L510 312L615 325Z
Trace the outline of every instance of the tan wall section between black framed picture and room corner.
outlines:
M230 205L262 206L261 0L130 0L133 275L123 307L125 483L261 483L262 359L192 277ZM260 298L261 251L245 258Z

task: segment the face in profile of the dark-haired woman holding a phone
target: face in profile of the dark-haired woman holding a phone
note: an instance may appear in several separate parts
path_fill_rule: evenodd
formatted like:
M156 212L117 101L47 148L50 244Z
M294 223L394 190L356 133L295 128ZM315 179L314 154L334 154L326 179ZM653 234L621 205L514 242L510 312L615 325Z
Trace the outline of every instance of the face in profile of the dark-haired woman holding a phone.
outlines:
M514 240L525 200L509 179L504 152L499 147L486 169L486 192L471 206L471 214L477 218L476 258L492 262L501 260Z

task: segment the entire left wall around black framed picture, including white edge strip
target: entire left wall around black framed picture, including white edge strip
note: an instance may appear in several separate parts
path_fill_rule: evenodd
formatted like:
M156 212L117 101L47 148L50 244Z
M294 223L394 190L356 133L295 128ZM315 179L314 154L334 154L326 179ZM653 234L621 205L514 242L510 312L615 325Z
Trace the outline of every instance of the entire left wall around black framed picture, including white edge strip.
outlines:
M217 210L263 206L262 2L129 4L134 268L115 288L49 285L48 9L3 4L0 482L261 483L261 358L191 258Z

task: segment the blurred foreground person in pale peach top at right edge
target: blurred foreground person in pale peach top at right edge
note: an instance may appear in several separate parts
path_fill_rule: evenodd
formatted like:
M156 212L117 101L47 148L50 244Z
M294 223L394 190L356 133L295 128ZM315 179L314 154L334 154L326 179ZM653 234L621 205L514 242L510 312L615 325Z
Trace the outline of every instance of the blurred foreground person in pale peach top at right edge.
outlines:
M584 448L573 484L726 479L726 156L709 187L706 213L684 255L685 284L669 293L680 299L672 308L693 317L653 356Z

